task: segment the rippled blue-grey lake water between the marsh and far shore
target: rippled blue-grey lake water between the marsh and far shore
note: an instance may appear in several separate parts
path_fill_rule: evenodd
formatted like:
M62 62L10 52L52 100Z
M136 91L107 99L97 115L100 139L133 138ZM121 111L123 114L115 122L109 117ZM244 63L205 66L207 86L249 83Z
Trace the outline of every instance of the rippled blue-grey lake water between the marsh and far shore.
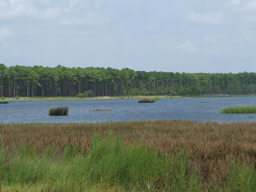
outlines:
M209 103L201 103L209 102ZM52 106L69 106L67 116L49 116ZM256 105L256 97L175 98L155 103L138 103L138 99L9 101L0 104L0 122L109 122L136 120L195 120L200 122L252 122L254 114L222 114L227 106ZM96 108L112 111L90 111Z

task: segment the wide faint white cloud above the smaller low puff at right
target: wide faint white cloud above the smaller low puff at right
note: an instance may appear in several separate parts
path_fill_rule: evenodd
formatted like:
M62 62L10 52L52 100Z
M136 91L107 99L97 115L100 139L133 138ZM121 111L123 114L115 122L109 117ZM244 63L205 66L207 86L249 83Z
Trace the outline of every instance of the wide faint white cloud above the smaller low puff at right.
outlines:
M223 15L221 13L201 14L201 13L191 12L187 16L192 22L200 22L200 23L208 23L208 24L219 24L222 21L222 16Z

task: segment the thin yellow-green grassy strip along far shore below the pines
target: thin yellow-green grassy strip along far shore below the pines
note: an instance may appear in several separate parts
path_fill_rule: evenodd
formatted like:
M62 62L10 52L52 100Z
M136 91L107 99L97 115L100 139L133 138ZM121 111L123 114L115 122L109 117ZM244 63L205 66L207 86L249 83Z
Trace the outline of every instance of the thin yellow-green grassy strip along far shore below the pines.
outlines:
M6 97L5 101L52 101L52 100L101 100L101 99L166 99L166 98L211 98L211 97L256 97L256 94L251 95L228 95L228 94L218 94L218 95L197 95L197 96L168 96L168 95L158 95L158 96L118 96L118 97L87 97L87 98L79 98L79 97L19 97L16 99L15 97Z

